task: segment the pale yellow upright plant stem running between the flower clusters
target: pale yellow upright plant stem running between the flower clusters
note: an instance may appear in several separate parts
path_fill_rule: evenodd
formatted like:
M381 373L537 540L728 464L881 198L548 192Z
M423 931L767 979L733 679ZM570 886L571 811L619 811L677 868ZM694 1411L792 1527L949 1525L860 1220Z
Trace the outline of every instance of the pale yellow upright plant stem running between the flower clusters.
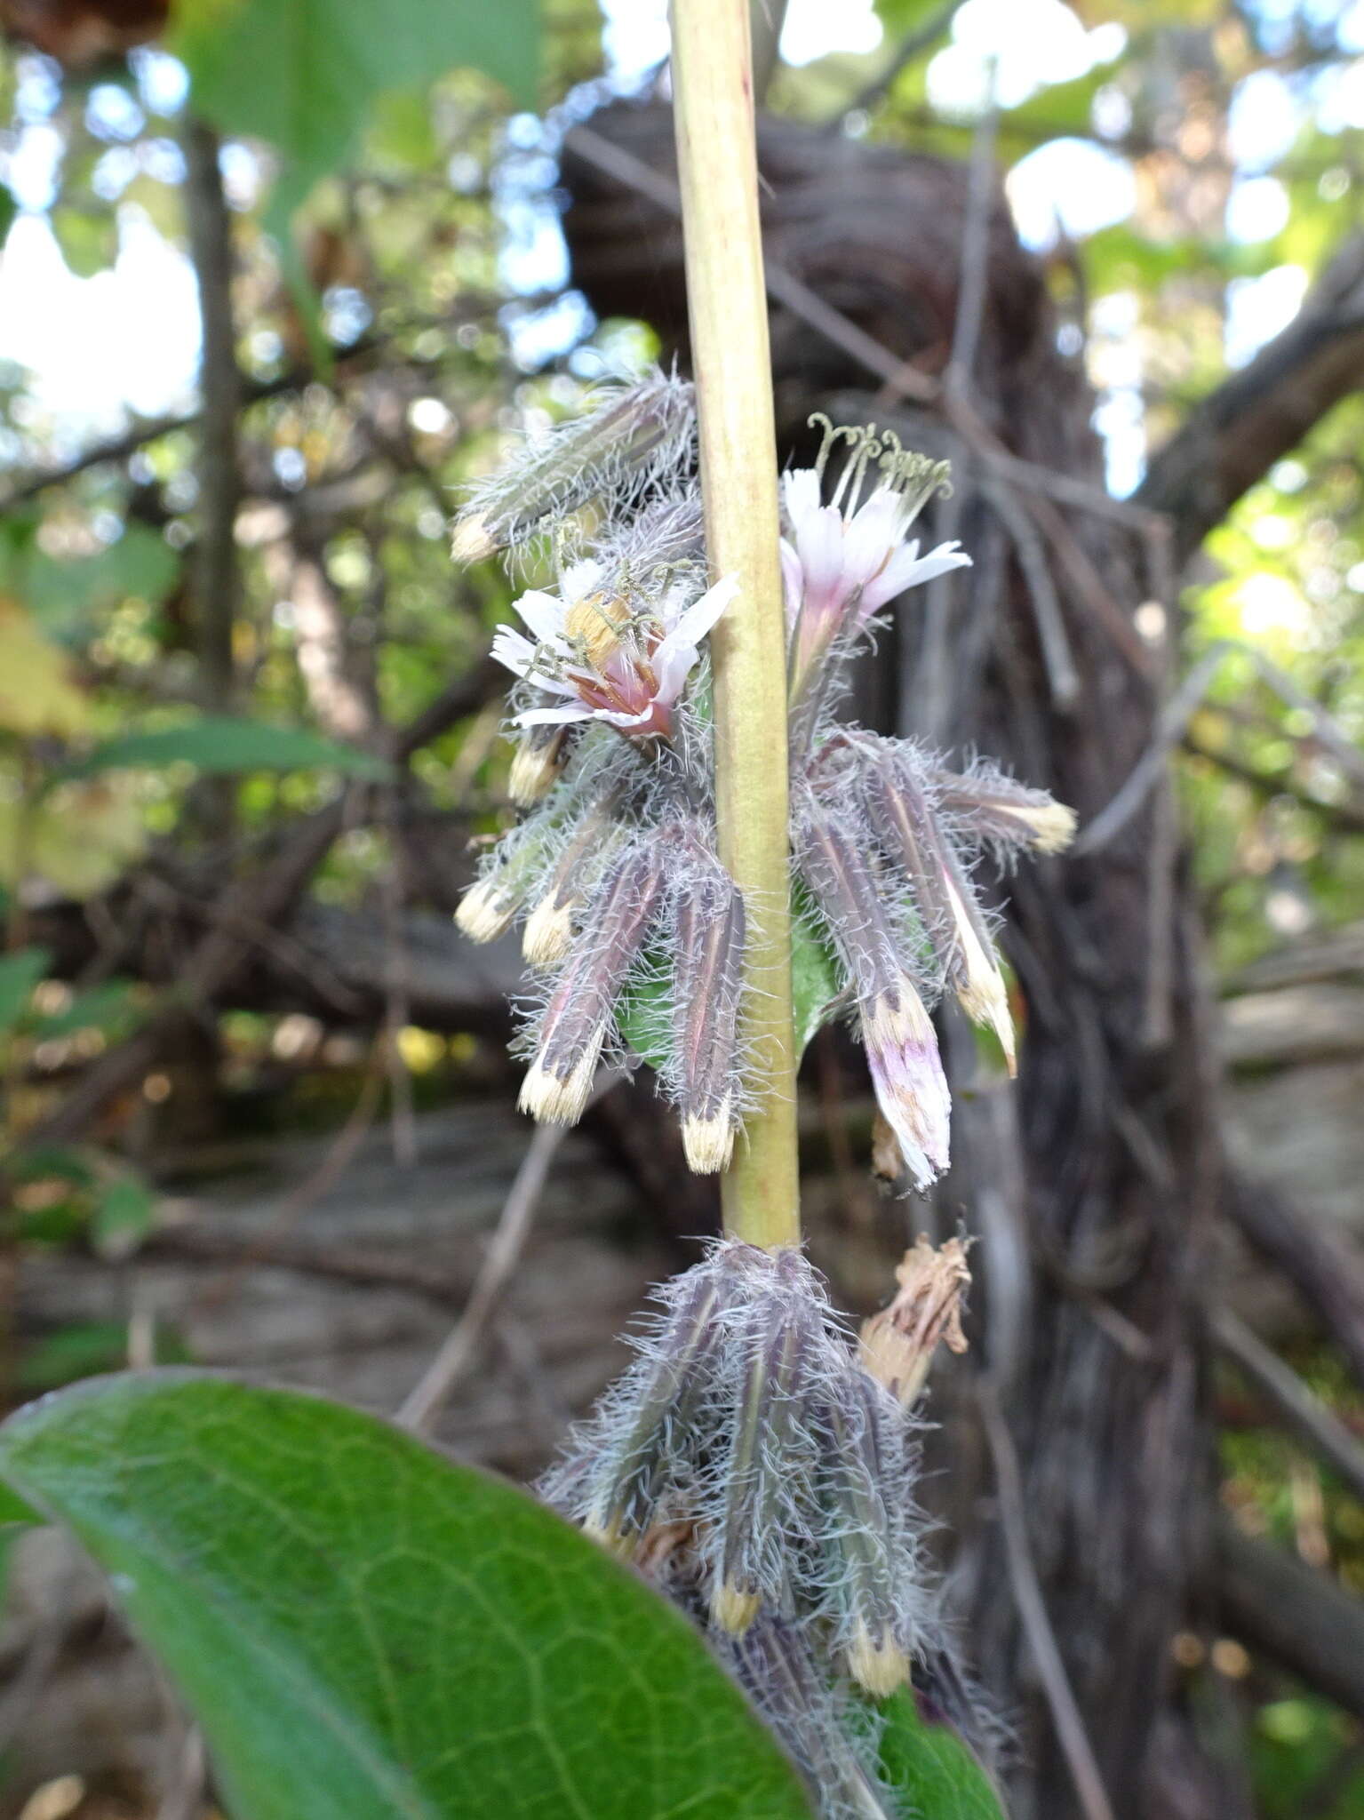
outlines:
M749 910L758 1105L722 1183L726 1230L800 1243L786 777L786 613L747 0L673 0L673 96L706 542L742 593L711 633L720 857Z

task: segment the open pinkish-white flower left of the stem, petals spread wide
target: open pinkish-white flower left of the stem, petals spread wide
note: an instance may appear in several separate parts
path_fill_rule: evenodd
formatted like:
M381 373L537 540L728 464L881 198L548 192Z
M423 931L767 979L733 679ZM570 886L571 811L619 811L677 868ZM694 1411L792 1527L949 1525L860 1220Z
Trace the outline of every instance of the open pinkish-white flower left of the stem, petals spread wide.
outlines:
M737 593L738 579L727 575L691 604L669 590L657 610L638 612L602 588L595 562L569 568L557 595L531 588L513 606L535 642L498 626L493 657L564 706L529 708L517 724L607 721L637 739L667 739L700 641Z

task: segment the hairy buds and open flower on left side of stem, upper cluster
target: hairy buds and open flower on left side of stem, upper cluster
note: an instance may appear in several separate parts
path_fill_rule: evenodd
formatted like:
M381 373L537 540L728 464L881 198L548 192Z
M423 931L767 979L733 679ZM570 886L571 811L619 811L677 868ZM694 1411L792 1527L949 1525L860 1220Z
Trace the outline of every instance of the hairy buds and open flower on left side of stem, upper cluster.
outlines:
M660 373L486 482L456 553L567 542L558 586L515 601L493 655L518 677L511 795L527 812L487 857L458 923L491 941L520 915L524 1110L573 1123L604 1056L647 1046L693 1168L722 1168L744 1103L747 912L715 850L704 641L738 584L707 586L691 388ZM573 466L591 451L589 471ZM493 528L493 530L489 530ZM582 526L578 526L582 535ZM476 541L484 539L484 541ZM629 1045L622 1034L629 1030Z

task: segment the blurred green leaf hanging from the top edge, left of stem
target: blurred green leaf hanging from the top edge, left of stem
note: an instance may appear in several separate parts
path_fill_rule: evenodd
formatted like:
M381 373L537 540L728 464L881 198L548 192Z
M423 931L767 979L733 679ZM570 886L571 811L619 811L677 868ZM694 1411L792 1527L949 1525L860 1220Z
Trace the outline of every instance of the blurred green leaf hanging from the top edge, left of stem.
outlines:
M180 4L171 49L195 106L224 133L267 138L289 193L346 164L384 89L427 84L456 66L535 106L537 0L215 0Z

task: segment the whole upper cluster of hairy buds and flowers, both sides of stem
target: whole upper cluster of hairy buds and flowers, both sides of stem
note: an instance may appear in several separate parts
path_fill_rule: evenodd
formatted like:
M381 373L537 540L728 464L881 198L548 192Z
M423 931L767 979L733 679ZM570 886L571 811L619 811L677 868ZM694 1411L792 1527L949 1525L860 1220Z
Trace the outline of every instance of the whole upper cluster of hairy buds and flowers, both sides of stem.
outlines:
M844 664L880 608L969 557L957 544L920 555L908 537L948 484L944 462L893 435L818 422L815 466L782 482L793 883L837 963L837 1003L860 1030L904 1168L926 1187L948 1167L951 1108L933 1005L955 994L993 1028L1009 1070L1015 1059L973 866L984 850L1057 852L1073 817L989 766L953 772L911 743L838 724ZM458 521L464 557L517 557L535 537L557 557L577 546L555 590L515 601L524 630L502 626L493 642L518 679L509 788L527 814L487 857L458 921L489 941L526 919L527 1112L571 1123L604 1056L647 1052L691 1167L717 1170L751 1097L753 906L717 852L702 655L738 581L709 582L691 466L691 391L653 373L607 389L595 411L484 482Z

